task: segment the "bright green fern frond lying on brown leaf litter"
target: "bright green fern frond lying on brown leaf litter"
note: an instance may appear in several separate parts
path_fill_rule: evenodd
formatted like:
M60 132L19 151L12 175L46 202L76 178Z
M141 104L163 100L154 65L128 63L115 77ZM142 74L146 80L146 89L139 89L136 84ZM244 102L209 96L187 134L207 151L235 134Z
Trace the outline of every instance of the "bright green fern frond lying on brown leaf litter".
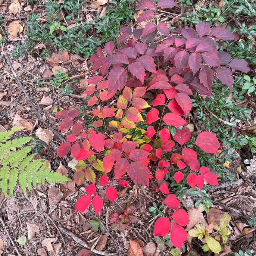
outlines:
M13 132L22 127L12 128L10 131L0 132L0 190L6 197L7 191L13 196L13 190L19 182L22 191L26 194L26 188L31 190L31 184L36 187L44 184L45 181L51 183L70 181L63 175L49 169L44 159L32 160L36 154L28 155L33 146L24 146L33 138L24 137L10 140ZM19 149L21 148L21 149Z

